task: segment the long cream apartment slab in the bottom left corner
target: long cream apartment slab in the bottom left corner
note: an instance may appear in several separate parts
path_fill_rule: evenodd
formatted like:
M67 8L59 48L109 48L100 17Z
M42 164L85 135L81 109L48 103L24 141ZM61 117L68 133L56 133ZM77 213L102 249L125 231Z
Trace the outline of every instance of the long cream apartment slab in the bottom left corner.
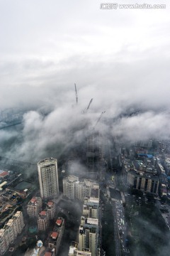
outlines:
M23 213L18 210L13 215L13 218L8 220L8 223L4 225L4 228L1 228L0 230L0 255L3 255L4 252L6 252L10 243L21 233L23 227Z

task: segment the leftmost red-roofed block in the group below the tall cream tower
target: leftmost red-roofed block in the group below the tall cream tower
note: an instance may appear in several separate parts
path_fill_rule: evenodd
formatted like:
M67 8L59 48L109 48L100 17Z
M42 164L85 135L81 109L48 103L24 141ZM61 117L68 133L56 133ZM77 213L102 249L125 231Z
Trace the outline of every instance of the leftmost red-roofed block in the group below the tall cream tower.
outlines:
M31 218L38 217L42 208L42 199L40 197L33 197L27 206L27 213Z

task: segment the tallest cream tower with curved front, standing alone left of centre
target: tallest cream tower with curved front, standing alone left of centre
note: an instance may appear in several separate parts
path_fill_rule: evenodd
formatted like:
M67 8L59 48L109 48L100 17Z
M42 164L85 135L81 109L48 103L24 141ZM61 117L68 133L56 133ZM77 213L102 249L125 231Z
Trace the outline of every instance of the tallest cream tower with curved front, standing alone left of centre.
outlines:
M38 162L40 195L49 198L59 192L57 159L47 158Z

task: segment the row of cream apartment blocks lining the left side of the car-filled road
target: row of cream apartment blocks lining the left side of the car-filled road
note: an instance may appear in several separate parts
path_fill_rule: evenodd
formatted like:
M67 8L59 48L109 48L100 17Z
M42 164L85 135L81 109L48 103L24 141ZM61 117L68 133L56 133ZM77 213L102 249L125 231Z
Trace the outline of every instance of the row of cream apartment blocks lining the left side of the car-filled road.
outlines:
M67 183L65 183L67 181ZM69 176L63 180L63 186L69 186L69 181L74 183L74 186L79 186L77 177ZM98 210L99 210L99 196L100 190L98 183L84 180L84 205L83 215L81 216L81 223L79 226L78 242L74 242L69 247L69 256L74 255L98 255ZM73 186L73 187L74 187ZM65 189L67 191L67 189ZM76 191L76 189L73 191ZM76 198L77 194L73 194ZM79 198L80 199L80 198ZM82 200L82 198L81 198Z

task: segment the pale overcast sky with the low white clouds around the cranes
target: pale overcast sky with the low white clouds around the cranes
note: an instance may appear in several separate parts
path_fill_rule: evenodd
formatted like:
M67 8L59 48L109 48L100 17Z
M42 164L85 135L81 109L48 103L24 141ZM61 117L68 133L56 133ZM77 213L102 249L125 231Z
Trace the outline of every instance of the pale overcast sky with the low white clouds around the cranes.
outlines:
M157 133L169 138L170 4L117 1L136 2L166 8L107 10L98 0L0 0L1 110L53 111L45 120L38 112L26 114L22 151L30 146L37 150L35 137L41 148L56 136L61 139L64 128L74 127L76 120L79 127L83 119L95 123L103 110L113 118L129 108L142 110L116 122L113 135L135 140ZM91 113L82 117L79 113L91 98Z

